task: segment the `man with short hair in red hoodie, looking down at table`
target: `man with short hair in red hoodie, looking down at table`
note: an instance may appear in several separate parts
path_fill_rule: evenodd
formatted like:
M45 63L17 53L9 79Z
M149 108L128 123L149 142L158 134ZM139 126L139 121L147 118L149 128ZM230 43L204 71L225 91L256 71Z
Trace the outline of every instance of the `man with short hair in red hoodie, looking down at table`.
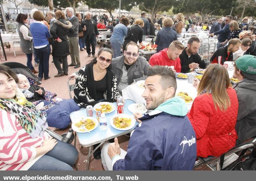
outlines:
M172 41L168 49L152 55L149 60L151 66L162 65L170 67L173 72L180 72L180 54L182 53L185 46L180 41Z

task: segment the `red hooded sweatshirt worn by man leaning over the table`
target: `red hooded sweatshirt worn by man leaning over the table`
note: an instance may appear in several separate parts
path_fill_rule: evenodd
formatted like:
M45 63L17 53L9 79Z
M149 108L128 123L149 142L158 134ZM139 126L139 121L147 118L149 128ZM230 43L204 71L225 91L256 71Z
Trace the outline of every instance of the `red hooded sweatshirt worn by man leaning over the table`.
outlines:
M168 48L163 49L160 52L152 55L150 57L149 64L151 66L154 66L154 65L169 66L170 68L172 68L171 66L174 66L173 69L176 72L180 72L181 71L180 58L178 57L176 60L169 59L169 57L167 56L167 50Z

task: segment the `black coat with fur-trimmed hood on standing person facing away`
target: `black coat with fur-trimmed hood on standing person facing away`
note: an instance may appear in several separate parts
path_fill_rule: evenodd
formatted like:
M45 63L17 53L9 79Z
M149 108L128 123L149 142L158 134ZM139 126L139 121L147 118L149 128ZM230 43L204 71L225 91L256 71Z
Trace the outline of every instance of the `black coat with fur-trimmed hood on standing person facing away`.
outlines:
M62 40L61 42L53 41L52 43L52 56L53 57L65 57L70 54L68 44L68 29L71 28L72 24L65 19L55 20L53 26L50 29L50 33L53 39L58 37Z

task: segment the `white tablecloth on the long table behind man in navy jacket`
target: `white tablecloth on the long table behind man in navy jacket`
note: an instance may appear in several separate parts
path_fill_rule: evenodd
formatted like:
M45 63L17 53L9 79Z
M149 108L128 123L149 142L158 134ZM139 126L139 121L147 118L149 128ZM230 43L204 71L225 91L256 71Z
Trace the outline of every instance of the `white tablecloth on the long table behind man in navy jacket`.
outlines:
M195 74L194 72L191 72L192 74ZM190 73L188 73L190 74ZM228 70L228 75L231 78L233 76L233 71ZM188 83L188 79L176 79L177 80L177 90L176 94L179 92L187 92L189 96L193 98L193 100L197 96L196 88L192 86L192 84ZM122 90L123 98L131 99L135 103L140 103L146 105L145 99L141 96L144 92L144 88L137 86L136 84L132 84L127 86ZM193 102L187 103L188 110L191 109Z

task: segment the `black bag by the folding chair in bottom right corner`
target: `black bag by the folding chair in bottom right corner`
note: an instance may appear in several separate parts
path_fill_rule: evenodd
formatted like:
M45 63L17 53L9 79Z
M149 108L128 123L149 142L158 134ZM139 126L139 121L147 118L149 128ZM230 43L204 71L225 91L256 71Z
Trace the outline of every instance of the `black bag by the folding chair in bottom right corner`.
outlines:
M244 149L238 159L225 169L222 169L225 154L221 155L220 170L256 170L256 143L252 142L252 144L254 144L252 153L244 155L248 148Z

